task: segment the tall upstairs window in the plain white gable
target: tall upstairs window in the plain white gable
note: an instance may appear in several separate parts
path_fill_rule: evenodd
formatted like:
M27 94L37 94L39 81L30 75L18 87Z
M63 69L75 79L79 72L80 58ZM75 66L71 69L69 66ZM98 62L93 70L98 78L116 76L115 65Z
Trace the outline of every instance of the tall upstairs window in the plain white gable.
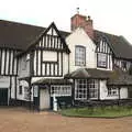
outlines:
M75 47L75 65L85 66L86 65L86 47L77 45Z

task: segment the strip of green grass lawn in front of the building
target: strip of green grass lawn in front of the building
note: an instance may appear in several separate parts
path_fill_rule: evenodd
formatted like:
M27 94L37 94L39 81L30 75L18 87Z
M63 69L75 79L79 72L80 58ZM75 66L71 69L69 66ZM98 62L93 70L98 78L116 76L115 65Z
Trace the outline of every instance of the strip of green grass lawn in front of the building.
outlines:
M61 110L67 117L120 118L132 116L132 107L70 108Z

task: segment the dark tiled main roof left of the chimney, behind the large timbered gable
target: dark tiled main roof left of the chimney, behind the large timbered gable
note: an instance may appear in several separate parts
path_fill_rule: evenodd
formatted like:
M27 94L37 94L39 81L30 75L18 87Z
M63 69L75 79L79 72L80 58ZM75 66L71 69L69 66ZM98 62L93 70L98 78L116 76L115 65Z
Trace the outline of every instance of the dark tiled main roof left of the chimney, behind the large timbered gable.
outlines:
M26 51L45 30L36 25L0 20L0 47ZM61 31L63 37L68 34L68 32Z

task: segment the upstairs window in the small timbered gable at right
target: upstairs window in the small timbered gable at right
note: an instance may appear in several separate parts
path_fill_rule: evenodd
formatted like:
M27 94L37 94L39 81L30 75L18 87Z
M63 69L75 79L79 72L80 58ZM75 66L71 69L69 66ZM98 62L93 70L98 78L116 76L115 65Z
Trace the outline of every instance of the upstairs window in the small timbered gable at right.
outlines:
M102 67L102 68L107 67L107 54L98 53L97 65L98 67Z

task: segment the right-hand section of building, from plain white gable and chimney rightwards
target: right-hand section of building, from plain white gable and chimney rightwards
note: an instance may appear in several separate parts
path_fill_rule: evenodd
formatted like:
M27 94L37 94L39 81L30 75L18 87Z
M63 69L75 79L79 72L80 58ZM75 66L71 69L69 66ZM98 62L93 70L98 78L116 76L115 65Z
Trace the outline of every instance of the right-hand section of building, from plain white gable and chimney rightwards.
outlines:
M74 101L117 100L132 97L132 45L123 37L94 30L90 16L75 14L72 34L69 74L74 81Z

